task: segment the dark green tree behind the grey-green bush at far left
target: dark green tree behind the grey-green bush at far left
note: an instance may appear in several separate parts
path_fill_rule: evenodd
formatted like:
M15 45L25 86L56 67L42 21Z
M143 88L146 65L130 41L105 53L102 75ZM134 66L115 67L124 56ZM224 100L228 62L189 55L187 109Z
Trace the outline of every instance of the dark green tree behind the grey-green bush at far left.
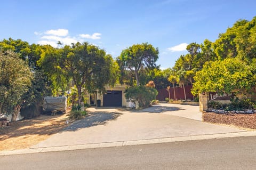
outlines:
M38 116L40 114L40 109L38 108L42 106L43 97L51 93L46 75L36 64L41 56L42 46L38 44L29 45L28 42L21 41L21 39L9 38L0 42L0 49L4 53L7 51L15 52L17 57L25 61L26 66L29 67L33 77L31 78L31 85L27 87L27 92L21 97L26 100L23 100L20 111L25 117ZM28 112L31 112L31 114L28 114Z

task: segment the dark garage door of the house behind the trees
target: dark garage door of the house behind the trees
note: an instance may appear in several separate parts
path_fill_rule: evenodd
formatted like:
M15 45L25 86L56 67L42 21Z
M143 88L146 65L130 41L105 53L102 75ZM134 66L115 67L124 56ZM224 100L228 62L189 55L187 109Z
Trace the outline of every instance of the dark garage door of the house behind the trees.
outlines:
M107 93L103 95L103 106L121 107L122 91L107 91Z

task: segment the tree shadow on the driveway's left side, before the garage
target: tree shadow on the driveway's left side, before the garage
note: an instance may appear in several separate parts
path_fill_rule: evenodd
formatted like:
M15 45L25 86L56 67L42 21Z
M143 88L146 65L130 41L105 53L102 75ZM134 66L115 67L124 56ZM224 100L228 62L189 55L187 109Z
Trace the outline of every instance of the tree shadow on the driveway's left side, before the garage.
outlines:
M66 127L64 131L76 131L80 128L105 125L108 121L116 120L121 115L123 114L119 112L91 112L86 118Z

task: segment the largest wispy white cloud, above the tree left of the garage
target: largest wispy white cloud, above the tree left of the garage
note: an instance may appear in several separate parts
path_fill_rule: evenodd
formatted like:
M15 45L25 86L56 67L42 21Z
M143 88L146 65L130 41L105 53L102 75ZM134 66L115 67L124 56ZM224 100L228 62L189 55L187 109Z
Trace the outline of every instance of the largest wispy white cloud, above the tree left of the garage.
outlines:
M57 29L57 30L46 30L42 33L35 31L34 34L37 35L41 40L38 41L38 44L46 45L49 44L53 47L58 47L58 42L63 45L70 45L71 43L85 42L86 38L90 39L100 39L100 33L94 33L93 35L89 34L80 34L74 37L68 35L69 31L67 29Z

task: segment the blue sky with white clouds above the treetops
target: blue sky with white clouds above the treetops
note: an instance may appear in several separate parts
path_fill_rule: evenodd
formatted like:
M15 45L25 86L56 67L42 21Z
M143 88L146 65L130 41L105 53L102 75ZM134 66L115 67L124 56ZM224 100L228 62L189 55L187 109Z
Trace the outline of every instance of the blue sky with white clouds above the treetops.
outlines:
M161 68L173 67L186 44L214 42L238 19L256 16L255 0L1 1L0 40L30 44L89 42L116 58L148 42Z

